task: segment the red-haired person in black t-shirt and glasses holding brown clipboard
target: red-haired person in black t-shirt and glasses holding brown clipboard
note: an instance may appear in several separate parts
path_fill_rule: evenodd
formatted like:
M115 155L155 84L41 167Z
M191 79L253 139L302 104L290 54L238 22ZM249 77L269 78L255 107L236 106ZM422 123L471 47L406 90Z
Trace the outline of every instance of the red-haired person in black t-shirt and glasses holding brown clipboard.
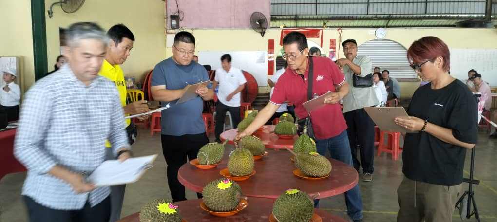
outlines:
M466 150L476 144L476 99L466 84L449 74L449 48L442 40L416 40L407 57L429 83L414 92L409 117L395 119L408 130L403 134L405 177L397 189L397 221L451 222L462 195Z

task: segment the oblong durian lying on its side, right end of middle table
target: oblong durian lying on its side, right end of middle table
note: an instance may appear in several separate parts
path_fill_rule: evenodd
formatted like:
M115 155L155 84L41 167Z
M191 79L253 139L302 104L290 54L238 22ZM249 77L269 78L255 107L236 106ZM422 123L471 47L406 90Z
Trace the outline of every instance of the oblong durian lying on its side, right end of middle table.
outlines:
M310 177L323 177L331 172L331 162L317 152L301 152L295 157L295 166Z

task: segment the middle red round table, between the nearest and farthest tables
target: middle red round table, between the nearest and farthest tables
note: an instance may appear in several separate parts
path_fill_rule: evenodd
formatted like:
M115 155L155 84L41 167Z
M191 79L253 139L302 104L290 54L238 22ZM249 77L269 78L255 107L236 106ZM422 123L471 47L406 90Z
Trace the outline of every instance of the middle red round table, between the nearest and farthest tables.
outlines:
M268 155L255 160L255 175L244 181L238 181L242 193L248 197L263 197L276 199L289 188L302 190L309 195L316 194L316 199L341 194L352 189L358 181L357 171L338 160L330 159L331 175L320 180L308 180L293 174L296 169L290 160L292 154L288 150L266 149ZM202 192L203 187L221 178L219 171L227 167L227 148L221 164L214 169L198 169L190 163L183 164L178 171L178 180L186 188L195 192Z

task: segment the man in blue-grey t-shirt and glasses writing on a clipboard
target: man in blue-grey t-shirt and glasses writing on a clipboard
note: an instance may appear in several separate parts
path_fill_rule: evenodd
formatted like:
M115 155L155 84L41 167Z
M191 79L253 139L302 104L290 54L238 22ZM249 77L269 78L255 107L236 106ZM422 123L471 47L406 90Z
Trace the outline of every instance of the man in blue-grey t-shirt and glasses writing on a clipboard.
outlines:
M205 68L193 63L195 37L189 32L178 32L174 36L172 57L156 65L152 73L151 92L154 100L170 102L162 111L162 150L166 159L166 176L173 202L186 200L185 188L178 181L181 165L197 158L198 150L209 143L202 119L202 100L211 100L214 91L211 85L200 87L199 97L176 104L184 94L186 85L209 80ZM199 198L201 194L197 193Z

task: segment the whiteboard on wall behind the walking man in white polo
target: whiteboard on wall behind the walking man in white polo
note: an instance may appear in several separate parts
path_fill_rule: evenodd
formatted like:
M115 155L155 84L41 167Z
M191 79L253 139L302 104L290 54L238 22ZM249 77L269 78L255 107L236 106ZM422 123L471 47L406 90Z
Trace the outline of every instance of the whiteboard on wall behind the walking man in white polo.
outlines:
M247 71L257 80L258 86L267 85L267 51L199 51L198 63L221 68L221 56L231 55L231 66Z

